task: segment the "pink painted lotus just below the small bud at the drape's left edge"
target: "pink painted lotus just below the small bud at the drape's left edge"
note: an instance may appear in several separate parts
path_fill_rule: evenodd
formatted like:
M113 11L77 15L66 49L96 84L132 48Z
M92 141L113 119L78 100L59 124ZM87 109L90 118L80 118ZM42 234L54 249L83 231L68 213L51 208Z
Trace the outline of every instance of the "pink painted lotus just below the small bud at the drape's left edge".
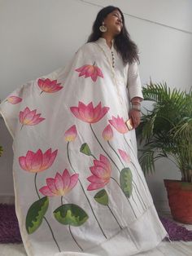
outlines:
M25 126L34 126L45 120L46 118L40 117L41 113L36 114L37 109L30 110L28 107L24 111L20 111L20 123Z

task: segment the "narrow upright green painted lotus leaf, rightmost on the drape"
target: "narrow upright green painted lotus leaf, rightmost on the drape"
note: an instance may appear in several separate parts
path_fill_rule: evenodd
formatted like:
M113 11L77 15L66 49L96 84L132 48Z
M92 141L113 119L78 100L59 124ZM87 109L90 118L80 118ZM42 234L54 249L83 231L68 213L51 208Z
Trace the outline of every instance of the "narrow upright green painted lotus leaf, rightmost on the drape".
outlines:
M130 197L133 190L133 176L129 168L124 168L120 172L120 188L123 190L124 195Z

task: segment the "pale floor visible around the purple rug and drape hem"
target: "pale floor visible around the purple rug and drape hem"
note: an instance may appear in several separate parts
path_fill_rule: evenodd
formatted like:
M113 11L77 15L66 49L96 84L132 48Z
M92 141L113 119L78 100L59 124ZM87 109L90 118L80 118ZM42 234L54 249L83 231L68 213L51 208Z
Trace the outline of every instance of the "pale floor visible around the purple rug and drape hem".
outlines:
M160 213L161 216L166 218L171 218L172 216L169 213ZM185 226L187 229L192 230L192 225L185 225L178 223L179 225ZM57 254L57 256L89 256L88 254ZM26 256L23 245L0 245L0 256ZM54 256L54 255L53 255ZM91 256L91 255L90 255ZM116 255L118 256L118 255ZM137 254L137 256L192 256L192 241L173 241L173 242L161 242L157 248L142 253Z

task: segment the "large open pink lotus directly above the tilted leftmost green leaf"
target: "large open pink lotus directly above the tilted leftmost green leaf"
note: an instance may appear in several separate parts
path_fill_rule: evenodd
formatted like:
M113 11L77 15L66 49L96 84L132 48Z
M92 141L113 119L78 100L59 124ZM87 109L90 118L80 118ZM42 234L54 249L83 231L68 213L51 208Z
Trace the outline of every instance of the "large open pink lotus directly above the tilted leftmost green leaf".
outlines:
M41 172L52 166L58 150L51 152L51 148L45 153L38 149L37 152L28 150L26 157L19 157L20 167L32 173Z

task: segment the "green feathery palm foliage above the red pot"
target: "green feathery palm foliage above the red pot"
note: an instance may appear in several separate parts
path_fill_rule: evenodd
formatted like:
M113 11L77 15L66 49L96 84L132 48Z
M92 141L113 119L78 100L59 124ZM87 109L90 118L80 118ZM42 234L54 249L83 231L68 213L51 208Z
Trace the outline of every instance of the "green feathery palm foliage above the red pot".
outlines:
M192 88L171 90L166 82L143 88L144 100L154 102L153 110L142 114L137 135L142 147L140 161L144 172L155 170L155 161L172 157L182 179L192 182Z

